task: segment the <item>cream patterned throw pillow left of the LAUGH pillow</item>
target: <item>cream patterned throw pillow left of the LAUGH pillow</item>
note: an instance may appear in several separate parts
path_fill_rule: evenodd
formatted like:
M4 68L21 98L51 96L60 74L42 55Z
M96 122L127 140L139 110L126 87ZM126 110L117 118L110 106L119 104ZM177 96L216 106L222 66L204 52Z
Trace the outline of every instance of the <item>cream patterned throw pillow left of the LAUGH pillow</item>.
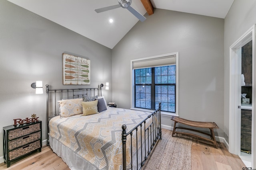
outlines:
M82 102L83 99L68 99L59 100L60 103L60 117L69 117L82 113Z

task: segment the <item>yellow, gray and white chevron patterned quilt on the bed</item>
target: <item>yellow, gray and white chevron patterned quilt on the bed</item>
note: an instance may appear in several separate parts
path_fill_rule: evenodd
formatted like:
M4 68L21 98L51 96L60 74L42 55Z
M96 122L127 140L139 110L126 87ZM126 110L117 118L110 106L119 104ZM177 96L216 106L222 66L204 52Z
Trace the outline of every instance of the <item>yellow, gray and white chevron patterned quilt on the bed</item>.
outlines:
M94 115L82 116L79 114L64 118L56 116L49 123L50 136L59 140L100 170L119 170L122 169L121 126L125 124L128 132L149 114L150 112L108 107L107 110ZM146 126L148 124L150 123L146 123ZM132 137L134 138L132 152L136 152L136 135ZM140 141L138 144L140 145ZM131 164L131 149L129 147L128 136L126 143L127 168Z

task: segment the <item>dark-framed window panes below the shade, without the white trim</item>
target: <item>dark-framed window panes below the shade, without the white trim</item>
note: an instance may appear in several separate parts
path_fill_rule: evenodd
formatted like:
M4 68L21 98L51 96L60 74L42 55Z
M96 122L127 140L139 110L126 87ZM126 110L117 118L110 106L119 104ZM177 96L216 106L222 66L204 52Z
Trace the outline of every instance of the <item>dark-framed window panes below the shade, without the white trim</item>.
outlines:
M176 65L134 70L135 107L175 113Z

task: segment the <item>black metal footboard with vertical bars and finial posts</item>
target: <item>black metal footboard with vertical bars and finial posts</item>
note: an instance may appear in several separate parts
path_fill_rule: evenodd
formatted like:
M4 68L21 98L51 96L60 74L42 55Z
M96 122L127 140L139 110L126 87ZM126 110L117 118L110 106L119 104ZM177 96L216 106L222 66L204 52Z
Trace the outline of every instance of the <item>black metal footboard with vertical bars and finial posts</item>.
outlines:
M158 139L162 139L162 129L161 129L161 103L159 103L159 107L156 111L148 115L146 119L140 122L136 127L126 133L126 125L122 125L122 152L123 152L123 170L126 170L126 140L127 136L130 135L130 149L131 149L131 169L133 169L133 159L137 161L136 169L141 169L145 164L150 152L152 151L156 141ZM150 120L150 125L146 127L146 120ZM144 125L144 126L143 126ZM144 128L142 128L142 126ZM138 135L138 131L141 135ZM144 137L142 137L142 133L144 133ZM132 157L132 135L136 135L136 158ZM140 148L138 147L138 138L140 138ZM144 145L142 145L142 141ZM140 164L140 167L138 167Z

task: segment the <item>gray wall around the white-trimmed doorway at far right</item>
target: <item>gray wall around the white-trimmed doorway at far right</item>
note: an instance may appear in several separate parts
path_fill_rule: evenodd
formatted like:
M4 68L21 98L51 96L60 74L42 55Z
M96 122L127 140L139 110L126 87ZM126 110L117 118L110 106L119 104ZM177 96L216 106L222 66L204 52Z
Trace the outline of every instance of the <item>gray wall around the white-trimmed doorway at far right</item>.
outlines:
M229 48L256 24L256 1L234 0L224 25L224 131L229 133Z

